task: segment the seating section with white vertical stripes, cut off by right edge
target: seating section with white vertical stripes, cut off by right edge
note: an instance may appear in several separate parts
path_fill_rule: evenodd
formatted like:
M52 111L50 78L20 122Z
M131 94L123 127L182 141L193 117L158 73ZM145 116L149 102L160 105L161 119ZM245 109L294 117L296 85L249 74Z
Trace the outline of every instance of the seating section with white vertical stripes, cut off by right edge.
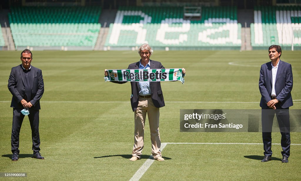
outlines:
M253 48L301 45L301 6L258 6L251 24Z

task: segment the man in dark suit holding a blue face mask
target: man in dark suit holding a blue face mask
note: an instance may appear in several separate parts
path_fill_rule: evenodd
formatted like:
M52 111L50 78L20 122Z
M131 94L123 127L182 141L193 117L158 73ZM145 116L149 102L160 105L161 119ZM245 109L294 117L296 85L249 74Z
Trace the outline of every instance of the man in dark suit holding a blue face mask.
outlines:
M29 49L21 53L22 64L11 69L8 79L8 89L13 95L11 107L13 109L13 124L11 129L11 160L19 159L19 135L24 115L21 111L29 109L29 123L33 140L33 158L44 159L40 154L40 135L39 135L39 110L40 99L44 93L44 82L42 70L31 66L33 54Z

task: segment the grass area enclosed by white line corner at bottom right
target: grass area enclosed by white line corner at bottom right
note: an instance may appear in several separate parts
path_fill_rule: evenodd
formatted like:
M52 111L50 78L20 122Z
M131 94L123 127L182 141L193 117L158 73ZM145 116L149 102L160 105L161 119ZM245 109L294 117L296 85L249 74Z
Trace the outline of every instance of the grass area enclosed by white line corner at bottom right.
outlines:
M262 145L168 144L163 151L166 161L155 161L140 180L150 180L154 173L157 180L300 180L299 146L291 146L295 154L289 164L281 163L280 145L272 150L272 161L262 163ZM270 170L262 177L263 170L271 168L282 171Z

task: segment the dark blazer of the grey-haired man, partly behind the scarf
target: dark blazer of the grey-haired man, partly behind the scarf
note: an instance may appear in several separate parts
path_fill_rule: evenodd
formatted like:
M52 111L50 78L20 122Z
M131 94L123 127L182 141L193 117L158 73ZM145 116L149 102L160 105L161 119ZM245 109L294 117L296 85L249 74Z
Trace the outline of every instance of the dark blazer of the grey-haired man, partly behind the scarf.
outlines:
M140 61L133 64L129 64L128 69L139 69L139 64ZM153 60L150 60L150 68L165 69L160 62L153 61ZM124 81L112 81L112 82L119 83L119 84L127 83ZM139 82L131 82L131 87L132 87L132 95L133 95L131 98L132 110L136 111L139 102ZM161 108L165 106L160 82L150 82L150 88L151 88L151 98L154 103L154 106L156 106L157 108Z

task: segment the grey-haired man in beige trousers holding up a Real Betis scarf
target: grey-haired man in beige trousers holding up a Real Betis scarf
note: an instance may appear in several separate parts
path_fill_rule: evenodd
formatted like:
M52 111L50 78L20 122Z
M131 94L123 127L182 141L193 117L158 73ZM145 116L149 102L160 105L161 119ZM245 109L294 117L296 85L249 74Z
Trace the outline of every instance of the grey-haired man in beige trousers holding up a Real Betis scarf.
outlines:
M148 44L139 47L138 53L140 61L130 64L128 69L164 69L158 61L150 60L153 50ZM185 69L182 69L185 74ZM107 70L104 75L108 76ZM113 83L126 83L113 81ZM132 95L131 105L135 113L135 137L130 161L136 161L141 158L144 146L144 124L146 114L151 130L152 155L157 161L164 161L160 151L161 140L159 133L159 108L165 106L160 82L131 82Z

